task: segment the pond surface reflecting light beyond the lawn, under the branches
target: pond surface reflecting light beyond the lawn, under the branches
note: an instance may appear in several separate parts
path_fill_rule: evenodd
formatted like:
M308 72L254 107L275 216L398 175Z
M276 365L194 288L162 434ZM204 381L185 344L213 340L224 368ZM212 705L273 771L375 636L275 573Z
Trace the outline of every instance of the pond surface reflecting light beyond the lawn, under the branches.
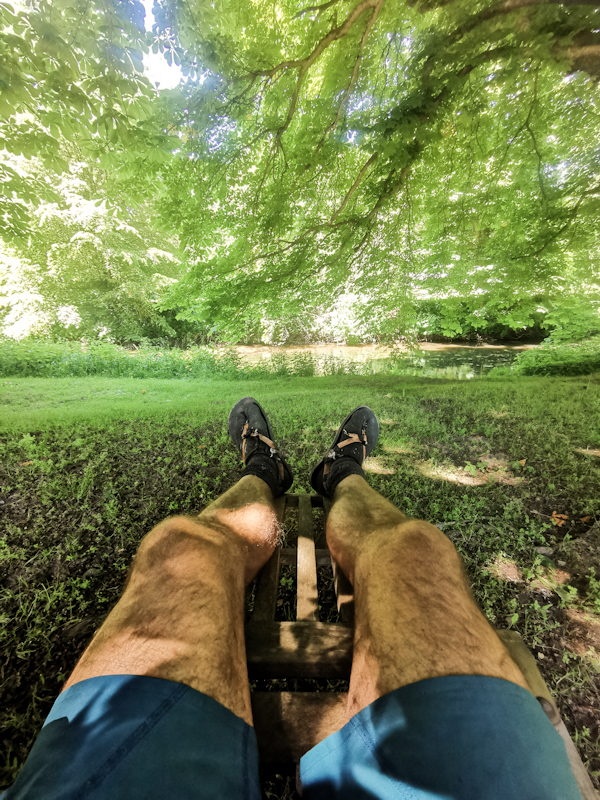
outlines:
M246 364L274 364L282 357L296 362L312 362L315 373L330 370L332 362L356 365L360 372L377 373L390 369L400 375L417 375L428 378L469 379L485 375L493 367L510 366L518 353L530 350L533 344L436 344L422 342L418 350L381 345L239 345L235 350Z

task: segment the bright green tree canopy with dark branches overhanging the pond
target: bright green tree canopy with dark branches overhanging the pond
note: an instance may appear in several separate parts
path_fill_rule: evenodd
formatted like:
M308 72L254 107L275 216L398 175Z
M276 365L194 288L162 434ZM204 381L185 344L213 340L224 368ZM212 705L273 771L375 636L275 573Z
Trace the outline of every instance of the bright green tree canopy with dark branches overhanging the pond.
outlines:
M148 31L136 0L83 5L0 4L4 147L61 169L76 138L135 176L180 237L181 316L239 336L352 296L363 331L397 337L415 302L443 299L456 335L595 313L594 2L154 0ZM150 48L180 88L150 86ZM38 184L15 181L23 235Z

